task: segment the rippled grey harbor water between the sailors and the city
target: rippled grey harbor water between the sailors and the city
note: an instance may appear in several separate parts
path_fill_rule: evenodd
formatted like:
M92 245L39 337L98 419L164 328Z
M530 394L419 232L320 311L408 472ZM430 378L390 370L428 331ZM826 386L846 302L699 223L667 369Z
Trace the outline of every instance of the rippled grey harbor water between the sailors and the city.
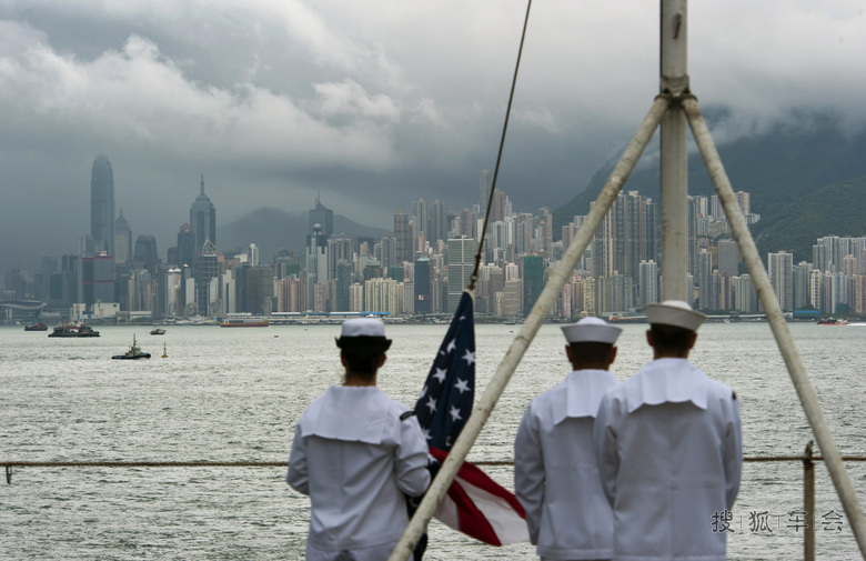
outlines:
M844 455L866 455L866 324L789 324ZM520 325L476 325L476 400ZM0 461L288 462L295 423L341 369L339 325L259 329L97 327L95 339L0 328ZM447 325L389 325L385 392L414 404ZM624 325L613 371L651 359L646 325ZM119 361L135 334L149 360ZM161 358L163 344L168 357ZM802 454L812 433L767 323L708 323L692 360L741 400L747 457ZM567 373L564 340L545 324L471 454L511 461L523 411ZM816 454L820 451L816 449ZM866 462L846 462L860 504ZM513 489L512 468L485 467ZM816 465L817 559L859 552L823 463ZM16 468L0 481L0 559L303 559L309 500L284 468ZM744 464L728 558L803 558L803 464ZM707 520L707 524L713 523ZM433 521L425 559L536 559Z

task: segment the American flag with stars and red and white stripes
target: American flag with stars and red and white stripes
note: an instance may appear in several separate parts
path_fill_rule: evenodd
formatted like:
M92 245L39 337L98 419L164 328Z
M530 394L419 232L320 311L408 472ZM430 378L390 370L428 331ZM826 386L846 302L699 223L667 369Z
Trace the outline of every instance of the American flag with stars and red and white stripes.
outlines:
M430 453L439 462L463 430L474 397L475 327L472 297L463 292L415 403ZM435 518L492 545L528 540L526 515L516 497L470 462L463 462Z

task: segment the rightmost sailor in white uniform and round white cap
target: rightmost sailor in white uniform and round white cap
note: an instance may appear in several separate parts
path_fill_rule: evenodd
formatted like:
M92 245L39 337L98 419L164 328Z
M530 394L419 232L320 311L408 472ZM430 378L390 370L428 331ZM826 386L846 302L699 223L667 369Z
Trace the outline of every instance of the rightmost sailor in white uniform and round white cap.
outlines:
M706 315L644 307L653 361L602 399L595 449L615 560L724 561L743 463L739 402L687 359Z

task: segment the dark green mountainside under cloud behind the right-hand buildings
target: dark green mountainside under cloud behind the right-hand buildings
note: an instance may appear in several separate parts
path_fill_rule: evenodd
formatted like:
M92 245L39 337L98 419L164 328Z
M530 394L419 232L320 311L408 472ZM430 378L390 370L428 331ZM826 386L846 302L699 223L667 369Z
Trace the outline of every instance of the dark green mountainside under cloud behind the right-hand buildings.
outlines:
M705 118L714 131L714 138L724 138L724 134L716 132L725 128L728 114L723 110L706 111ZM863 158L866 153L866 129L847 133L838 120L827 116L793 114L785 122L767 128L765 132L741 137L732 142L716 142L734 190L752 193L752 211L762 214L762 221L779 214L786 206L827 186L866 176L866 158ZM598 196L615 164L616 159L606 162L583 192L553 211L554 236L558 237L560 227L571 222L575 214L588 212L590 202ZM659 200L658 178L656 133L623 189L640 191ZM694 150L688 158L688 191L691 194L715 193L704 163ZM818 199L813 207L822 204ZM818 212L816 217L823 217L827 222L816 223L813 220L810 223L817 231L833 231L835 220L829 218L830 214Z

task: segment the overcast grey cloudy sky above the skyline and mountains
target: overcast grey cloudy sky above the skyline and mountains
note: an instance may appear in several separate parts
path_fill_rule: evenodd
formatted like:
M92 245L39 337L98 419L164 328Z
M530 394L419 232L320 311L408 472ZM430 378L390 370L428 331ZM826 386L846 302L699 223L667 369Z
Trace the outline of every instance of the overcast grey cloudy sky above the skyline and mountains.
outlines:
M658 7L533 3L497 186L515 210L563 204L632 136L658 89ZM265 206L300 212L320 191L383 228L419 197L476 203L525 10L0 0L0 270L74 250L98 156L133 236L157 234L163 258L202 173L219 223ZM734 109L723 138L791 108L866 120L862 0L693 1L688 36L702 107Z

